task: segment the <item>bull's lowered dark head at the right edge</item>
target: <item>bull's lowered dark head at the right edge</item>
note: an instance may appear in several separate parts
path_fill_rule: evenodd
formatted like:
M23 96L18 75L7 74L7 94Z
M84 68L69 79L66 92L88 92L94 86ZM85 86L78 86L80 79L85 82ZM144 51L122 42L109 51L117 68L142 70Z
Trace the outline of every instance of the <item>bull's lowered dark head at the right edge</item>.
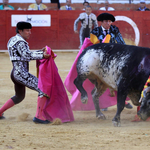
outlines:
M144 121L150 117L150 92L146 93L146 97L142 99L141 107L137 114Z

